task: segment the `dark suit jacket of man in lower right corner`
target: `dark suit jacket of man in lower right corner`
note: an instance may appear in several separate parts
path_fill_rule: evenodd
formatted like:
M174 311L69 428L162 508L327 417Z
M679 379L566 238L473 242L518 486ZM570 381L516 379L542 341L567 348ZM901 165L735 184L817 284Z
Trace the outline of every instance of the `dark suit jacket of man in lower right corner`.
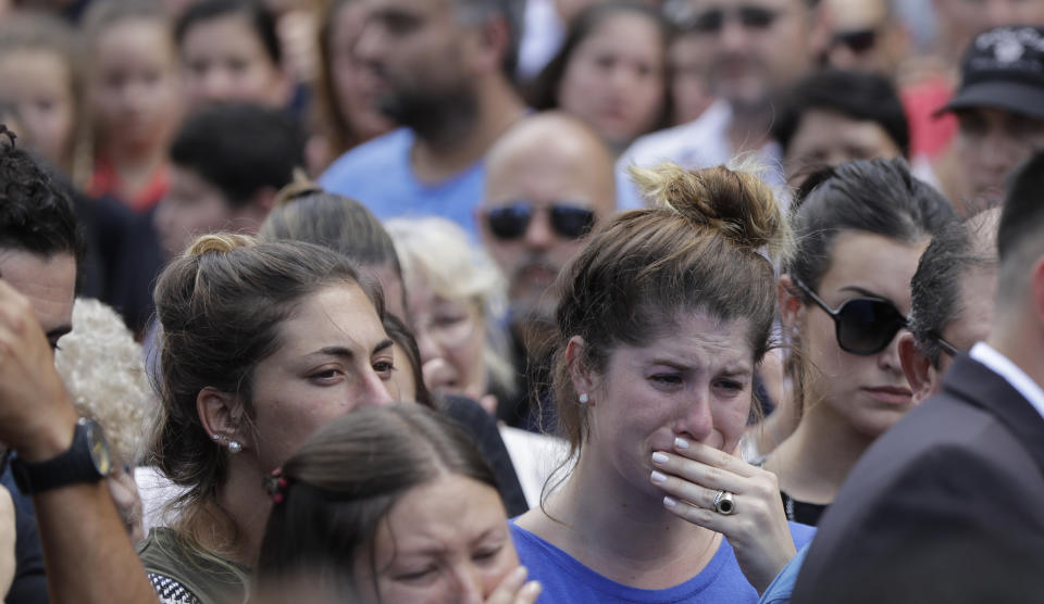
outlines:
M1044 602L1044 418L955 360L853 468L793 602Z

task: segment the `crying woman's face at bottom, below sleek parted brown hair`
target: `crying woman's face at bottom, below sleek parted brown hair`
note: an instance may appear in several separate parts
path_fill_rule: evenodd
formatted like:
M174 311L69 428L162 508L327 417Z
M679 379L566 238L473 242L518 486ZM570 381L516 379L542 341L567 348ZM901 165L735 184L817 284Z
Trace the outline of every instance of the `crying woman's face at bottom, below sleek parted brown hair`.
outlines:
M391 506L356 577L368 604L481 604L518 565L496 489L444 473Z

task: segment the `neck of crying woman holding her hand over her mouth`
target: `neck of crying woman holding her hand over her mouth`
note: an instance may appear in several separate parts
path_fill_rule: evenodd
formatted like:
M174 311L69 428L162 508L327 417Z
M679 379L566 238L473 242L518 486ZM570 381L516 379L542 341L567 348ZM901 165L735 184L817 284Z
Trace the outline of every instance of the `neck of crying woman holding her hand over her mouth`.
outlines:
M569 482L548 501L549 515L568 527L558 540L566 551L596 572L642 589L676 586L710 562L721 543L718 533L668 512L662 495L636 490L593 457L581 455Z

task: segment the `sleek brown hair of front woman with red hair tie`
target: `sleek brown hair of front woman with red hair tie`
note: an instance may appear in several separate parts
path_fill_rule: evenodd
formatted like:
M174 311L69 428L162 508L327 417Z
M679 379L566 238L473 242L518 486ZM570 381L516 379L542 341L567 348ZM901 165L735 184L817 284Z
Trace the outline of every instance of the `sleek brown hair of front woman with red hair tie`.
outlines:
M256 576L353 587L381 520L410 490L453 474L497 489L493 470L451 419L412 403L360 410L313 435L283 466ZM347 583L347 584L346 584Z

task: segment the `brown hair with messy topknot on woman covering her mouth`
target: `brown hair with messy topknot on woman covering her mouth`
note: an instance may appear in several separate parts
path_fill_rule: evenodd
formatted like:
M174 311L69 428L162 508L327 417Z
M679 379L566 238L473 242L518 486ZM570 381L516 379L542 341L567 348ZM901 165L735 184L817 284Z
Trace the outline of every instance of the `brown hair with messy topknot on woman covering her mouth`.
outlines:
M559 275L554 393L571 453L587 439L566 363L573 336L582 362L605 372L620 345L647 345L685 313L746 320L759 363L775 316L772 262L788 243L775 197L754 174L718 166L689 172L673 164L632 168L656 206L619 214L596 228L584 251Z

